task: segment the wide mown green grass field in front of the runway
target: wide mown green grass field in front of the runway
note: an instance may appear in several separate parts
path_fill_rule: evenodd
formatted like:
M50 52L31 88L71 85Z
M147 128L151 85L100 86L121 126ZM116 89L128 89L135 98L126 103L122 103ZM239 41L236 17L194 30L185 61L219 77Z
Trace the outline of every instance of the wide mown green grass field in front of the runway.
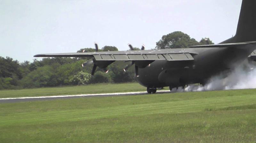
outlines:
M0 142L256 142L256 90L0 104Z

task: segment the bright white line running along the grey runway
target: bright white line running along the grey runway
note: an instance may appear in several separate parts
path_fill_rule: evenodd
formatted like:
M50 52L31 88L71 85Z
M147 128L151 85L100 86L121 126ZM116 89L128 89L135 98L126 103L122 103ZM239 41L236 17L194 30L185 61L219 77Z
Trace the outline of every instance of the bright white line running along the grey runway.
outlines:
M156 93L168 93L170 90L161 90ZM58 98L58 97L80 97L80 96L104 96L104 95L134 95L134 94L147 94L146 91L143 92L124 92L124 93L101 93L101 94L79 94L79 95L57 95L57 96L38 96L38 97L17 97L17 98L0 98L0 100L10 100L10 99L35 99L35 98Z

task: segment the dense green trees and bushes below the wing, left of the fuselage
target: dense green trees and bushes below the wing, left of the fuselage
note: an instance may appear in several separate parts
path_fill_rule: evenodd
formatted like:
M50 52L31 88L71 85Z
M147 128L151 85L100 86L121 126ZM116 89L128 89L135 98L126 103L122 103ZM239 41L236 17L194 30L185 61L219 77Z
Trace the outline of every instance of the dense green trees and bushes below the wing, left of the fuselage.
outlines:
M33 63L19 63L10 57L0 57L0 89L120 83L134 80L132 70L123 71L126 63L116 62L109 65L107 74L97 68L92 77L92 65L82 67L85 61L79 58L55 57L43 58L41 61L35 59Z

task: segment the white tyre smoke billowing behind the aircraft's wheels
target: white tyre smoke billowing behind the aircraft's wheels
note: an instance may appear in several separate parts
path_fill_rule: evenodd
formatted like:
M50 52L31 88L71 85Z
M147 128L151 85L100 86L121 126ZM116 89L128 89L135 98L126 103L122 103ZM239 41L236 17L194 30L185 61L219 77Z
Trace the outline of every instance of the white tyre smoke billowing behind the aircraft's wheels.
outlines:
M256 88L256 66L252 64L236 67L236 69L230 72L227 77L224 77L223 73L212 77L204 86L188 85L185 87L185 89L182 89L181 87L179 87L177 90L172 89L172 92L196 92L249 88Z

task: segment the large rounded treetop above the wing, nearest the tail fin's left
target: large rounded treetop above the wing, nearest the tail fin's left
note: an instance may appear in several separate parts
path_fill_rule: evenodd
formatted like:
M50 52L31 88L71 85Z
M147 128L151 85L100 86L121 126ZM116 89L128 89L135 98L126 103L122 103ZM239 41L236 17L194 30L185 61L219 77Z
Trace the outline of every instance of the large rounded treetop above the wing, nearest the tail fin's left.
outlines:
M156 49L188 48L194 45L199 45L199 42L190 38L188 34L176 31L164 35L161 40L156 42Z

